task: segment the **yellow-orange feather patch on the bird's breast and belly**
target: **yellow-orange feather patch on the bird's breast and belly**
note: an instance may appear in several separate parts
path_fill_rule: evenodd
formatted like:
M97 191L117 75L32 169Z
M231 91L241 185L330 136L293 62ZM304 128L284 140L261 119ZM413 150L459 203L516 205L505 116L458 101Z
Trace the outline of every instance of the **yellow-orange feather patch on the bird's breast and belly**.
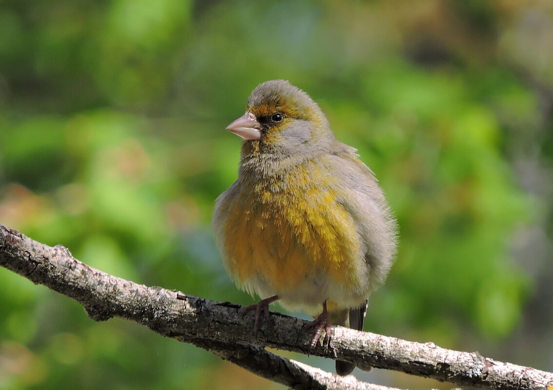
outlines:
M305 170L294 170L228 199L226 262L238 284L262 275L275 291L293 290L325 273L352 291L359 285L354 267L364 254L356 224L336 201L332 183L316 172L307 177Z

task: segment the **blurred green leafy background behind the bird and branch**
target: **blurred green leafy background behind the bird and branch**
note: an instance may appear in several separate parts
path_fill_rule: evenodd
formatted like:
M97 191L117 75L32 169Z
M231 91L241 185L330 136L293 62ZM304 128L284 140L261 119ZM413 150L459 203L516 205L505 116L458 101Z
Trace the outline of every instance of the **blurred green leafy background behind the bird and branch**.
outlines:
M2 1L0 223L119 277L252 303L210 219L236 178L225 126L273 78L320 104L399 219L365 329L553 370L549 0ZM282 387L2 268L0 388Z

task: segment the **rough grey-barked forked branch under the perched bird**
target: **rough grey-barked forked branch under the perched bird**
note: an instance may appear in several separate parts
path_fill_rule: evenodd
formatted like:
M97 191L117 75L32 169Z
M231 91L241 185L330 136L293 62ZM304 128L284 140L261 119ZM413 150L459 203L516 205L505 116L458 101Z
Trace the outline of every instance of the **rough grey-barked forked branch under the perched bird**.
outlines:
M499 390L553 390L553 373L447 350L433 343L400 340L337 326L328 348L309 351L311 330L304 320L272 313L252 334L251 315L230 302L213 302L161 287L147 287L87 266L65 247L34 241L0 225L0 265L81 303L97 321L129 319L157 333L190 342L270 380L289 387L379 389L339 377L264 350L282 350L403 371L414 375Z

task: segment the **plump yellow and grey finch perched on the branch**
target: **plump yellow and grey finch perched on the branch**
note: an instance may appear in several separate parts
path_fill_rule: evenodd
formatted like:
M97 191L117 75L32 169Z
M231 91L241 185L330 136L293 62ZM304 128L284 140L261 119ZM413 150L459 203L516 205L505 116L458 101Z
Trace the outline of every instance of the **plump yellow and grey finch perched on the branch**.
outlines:
M285 80L261 83L227 127L243 138L238 178L217 198L213 230L227 272L262 300L362 330L367 302L392 266L397 223L373 172L337 141L311 97ZM355 365L336 361L348 375Z

